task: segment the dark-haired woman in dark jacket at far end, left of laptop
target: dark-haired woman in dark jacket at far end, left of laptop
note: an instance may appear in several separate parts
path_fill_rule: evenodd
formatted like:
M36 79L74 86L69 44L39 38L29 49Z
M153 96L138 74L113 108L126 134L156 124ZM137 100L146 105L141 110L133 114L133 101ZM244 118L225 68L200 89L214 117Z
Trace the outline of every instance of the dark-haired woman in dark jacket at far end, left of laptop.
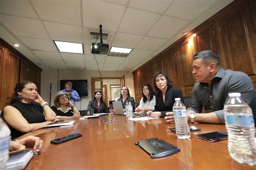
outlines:
M93 113L109 113L109 109L106 106L105 101L102 99L102 92L97 90L94 93L94 100L89 101L87 106L87 115L91 115L90 110L93 109Z

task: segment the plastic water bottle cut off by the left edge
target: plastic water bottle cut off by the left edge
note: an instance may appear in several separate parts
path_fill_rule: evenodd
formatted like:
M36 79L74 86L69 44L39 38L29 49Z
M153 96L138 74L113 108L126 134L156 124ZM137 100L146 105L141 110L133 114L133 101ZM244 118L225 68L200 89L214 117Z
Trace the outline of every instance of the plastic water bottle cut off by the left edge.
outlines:
M0 111L1 114L1 111ZM0 169L6 169L6 161L9 158L9 144L11 139L9 127L0 118Z

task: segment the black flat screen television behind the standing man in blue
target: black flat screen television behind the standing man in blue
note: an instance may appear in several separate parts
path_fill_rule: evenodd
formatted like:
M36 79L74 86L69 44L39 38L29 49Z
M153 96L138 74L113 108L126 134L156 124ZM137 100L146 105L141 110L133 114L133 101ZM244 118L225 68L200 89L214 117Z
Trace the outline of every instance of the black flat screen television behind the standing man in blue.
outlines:
M64 89L64 85L67 81L73 83L72 90L76 90L79 96L88 96L87 80L60 80L60 90Z

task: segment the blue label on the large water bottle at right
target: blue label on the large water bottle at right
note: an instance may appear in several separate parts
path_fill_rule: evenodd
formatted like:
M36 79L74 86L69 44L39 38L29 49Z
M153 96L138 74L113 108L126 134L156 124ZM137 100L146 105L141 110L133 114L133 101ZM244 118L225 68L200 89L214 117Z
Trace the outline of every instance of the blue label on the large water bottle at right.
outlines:
M254 126L253 115L227 115L226 121L228 125Z

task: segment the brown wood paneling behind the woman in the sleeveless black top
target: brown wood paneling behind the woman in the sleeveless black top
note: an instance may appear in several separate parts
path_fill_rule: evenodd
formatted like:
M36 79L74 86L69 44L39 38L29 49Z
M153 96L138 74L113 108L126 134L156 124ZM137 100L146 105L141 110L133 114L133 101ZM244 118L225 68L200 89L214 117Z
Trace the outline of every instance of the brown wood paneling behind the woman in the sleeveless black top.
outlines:
M0 110L10 103L15 85L19 81L32 81L40 92L42 69L2 38L0 38L0 57Z

